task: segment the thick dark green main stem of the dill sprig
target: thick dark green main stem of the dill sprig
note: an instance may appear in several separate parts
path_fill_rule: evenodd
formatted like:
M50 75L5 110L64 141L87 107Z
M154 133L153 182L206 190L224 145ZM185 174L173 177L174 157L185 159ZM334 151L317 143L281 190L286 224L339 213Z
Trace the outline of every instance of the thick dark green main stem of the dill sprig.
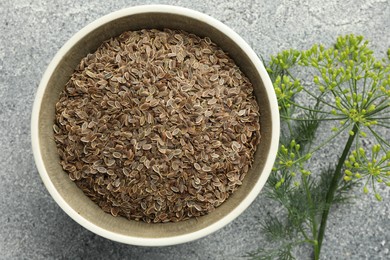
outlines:
M322 245L322 241L323 241L324 235L325 235L325 228L326 228L326 222L328 220L329 210L330 210L330 207L333 203L334 194L337 191L338 183L340 181L340 178L342 177L341 169L344 165L345 159L347 158L347 156L349 154L349 151L351 150L352 143L355 139L355 136L358 134L357 133L358 128L359 128L358 123L354 124L352 131L355 134L350 135L347 143L345 144L343 153L342 153L342 155L337 163L336 170L335 170L334 175L332 177L332 181L330 183L329 190L326 194L326 198L325 198L325 203L326 203L325 205L326 206L325 206L324 211L322 212L321 223L320 223L320 228L319 228L318 237L317 237L318 250L316 250L314 252L314 259L315 260L320 259L321 245Z

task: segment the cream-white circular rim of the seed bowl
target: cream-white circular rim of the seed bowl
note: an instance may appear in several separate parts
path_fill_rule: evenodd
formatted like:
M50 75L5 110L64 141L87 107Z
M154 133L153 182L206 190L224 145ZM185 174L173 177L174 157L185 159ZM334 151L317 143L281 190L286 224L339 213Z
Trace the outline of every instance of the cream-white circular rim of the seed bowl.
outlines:
M260 74L260 77L263 81L265 91L267 93L267 97L269 100L270 111L271 111L271 122L272 122L270 150L267 156L266 163L264 164L263 172L258 182L255 184L255 186L250 191L250 193L246 196L246 198L242 202L240 202L240 204L235 209L233 209L229 214L225 215L220 220L214 222L210 226L207 226L201 230L197 230L192 233L187 233L187 234L173 236L173 237L162 237L162 238L140 238L135 236L118 234L103 229L89 222L84 217L79 215L61 197L56 187L50 180L49 174L46 171L46 168L43 163L42 153L41 153L40 143L39 143L39 135L38 135L39 114L40 114L43 95L46 91L47 84L50 80L52 73L54 72L54 69L58 66L62 57L72 48L72 46L76 44L79 40L81 40L85 35L92 32L94 29L102 26L103 24L109 23L113 20L117 20L122 17L140 14L140 13L151 13L151 12L178 14L181 16L187 16L194 20L199 20L221 31L223 34L225 34L227 37L231 38L235 43L237 43L237 45L242 48L244 53L248 55L249 59L255 66L257 72ZM264 65L262 64L258 56L255 54L255 52L252 50L252 48L236 32L234 32L227 25L216 20L215 18L212 18L209 15L206 15L204 13L192 9L179 7L179 6L172 6L172 5L139 5L139 6L124 8L109 13L101 18L98 18L97 20L91 22L90 24L82 28L80 31L78 31L76 34L74 34L63 45L63 47L56 53L56 55L48 65L46 71L44 72L35 95L35 100L34 100L33 110L31 115L31 143L32 143L32 150L33 150L35 164L44 185L46 186L47 190L49 191L53 199L56 201L56 203L74 221L76 221L77 223L79 223L81 226L88 229L89 231L92 231L93 233L108 238L110 240L114 240L125 244L139 245L139 246L168 246L168 245L176 245L176 244L190 242L205 237L217 231L218 229L221 229L222 227L224 227L225 225L233 221L235 218L237 218L255 200L255 198L263 188L265 182L267 181L268 176L272 170L273 163L276 158L278 143L279 143L279 135L280 135L279 109L278 109L277 99L273 89L273 85L271 79L269 78L268 73L265 70Z

